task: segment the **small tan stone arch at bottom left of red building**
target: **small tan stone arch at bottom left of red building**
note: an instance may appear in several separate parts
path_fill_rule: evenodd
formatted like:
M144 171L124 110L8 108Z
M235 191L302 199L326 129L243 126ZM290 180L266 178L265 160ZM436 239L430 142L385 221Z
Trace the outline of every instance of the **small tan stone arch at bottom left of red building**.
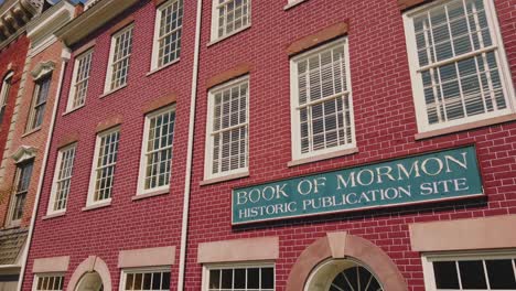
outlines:
M111 276L109 273L109 268L106 262L97 256L89 256L79 266L77 266L69 279L66 290L75 291L77 289L77 284L80 282L80 278L86 273L94 271L103 279L104 291L111 291Z

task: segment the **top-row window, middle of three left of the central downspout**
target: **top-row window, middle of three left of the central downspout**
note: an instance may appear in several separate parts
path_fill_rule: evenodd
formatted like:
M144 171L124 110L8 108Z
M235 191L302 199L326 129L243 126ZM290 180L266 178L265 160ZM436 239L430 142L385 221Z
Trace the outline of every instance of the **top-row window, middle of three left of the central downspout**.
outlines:
M111 52L109 53L109 65L106 75L106 93L126 86L131 52L132 24L112 35Z

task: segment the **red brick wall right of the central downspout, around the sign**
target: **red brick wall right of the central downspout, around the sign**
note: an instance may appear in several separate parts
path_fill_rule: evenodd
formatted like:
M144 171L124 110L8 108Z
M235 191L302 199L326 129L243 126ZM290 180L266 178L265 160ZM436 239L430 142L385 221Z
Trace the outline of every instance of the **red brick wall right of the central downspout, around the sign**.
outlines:
M252 1L252 25L212 46L212 1L204 1L192 185L186 288L201 290L197 245L234 238L278 236L277 290L283 290L297 258L329 231L364 237L396 262L412 291L424 290L420 255L410 250L408 225L416 222L516 214L516 123L508 122L427 140L415 140L416 114L401 12L395 0L309 0L283 11L287 0ZM495 1L505 48L516 80L514 0ZM291 160L290 84L287 47L303 36L348 22L351 74L359 152L288 168ZM206 82L250 63L249 172L238 181L200 186L204 175ZM475 144L486 198L232 227L232 188Z

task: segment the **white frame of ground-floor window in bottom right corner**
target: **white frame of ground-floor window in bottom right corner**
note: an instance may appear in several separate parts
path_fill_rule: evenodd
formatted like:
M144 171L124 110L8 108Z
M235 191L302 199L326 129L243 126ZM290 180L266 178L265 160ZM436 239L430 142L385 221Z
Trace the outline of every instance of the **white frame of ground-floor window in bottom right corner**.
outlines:
M421 256L424 289L427 291L437 291L436 274L433 272L434 261L450 261L450 260L492 260L492 259L512 259L513 266L516 259L516 251L513 250L492 250L492 251L454 251L454 252L437 252L423 254ZM453 289L454 290L454 289Z

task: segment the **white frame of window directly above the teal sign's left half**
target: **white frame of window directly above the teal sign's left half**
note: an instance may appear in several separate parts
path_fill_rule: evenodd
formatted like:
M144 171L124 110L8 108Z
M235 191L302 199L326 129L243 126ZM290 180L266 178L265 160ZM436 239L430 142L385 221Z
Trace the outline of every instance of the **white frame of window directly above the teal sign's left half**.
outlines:
M347 94L350 98L350 120L351 120L352 142L340 146L340 147L337 146L337 147L329 148L324 150L302 153L301 152L301 134L300 134L301 120L300 120L300 114L297 109L299 107L299 87L298 87L297 64L301 60L305 60L310 57L311 55L319 54L323 51L326 51L340 44L344 44L344 62L346 64L346 82L347 82L347 91L345 90L344 94ZM356 132L355 132L356 125L355 125L355 114L354 114L354 105L353 105L353 88L352 88L353 85L352 85L351 74L352 73L351 73L351 64L350 64L350 44L348 44L347 37L341 37L325 45L318 46L301 55L294 56L290 60L290 93L291 93L290 94L290 117L291 117L290 125L291 125L291 132L292 132L292 136L291 136L292 161L356 148ZM345 110L345 108L343 109Z

